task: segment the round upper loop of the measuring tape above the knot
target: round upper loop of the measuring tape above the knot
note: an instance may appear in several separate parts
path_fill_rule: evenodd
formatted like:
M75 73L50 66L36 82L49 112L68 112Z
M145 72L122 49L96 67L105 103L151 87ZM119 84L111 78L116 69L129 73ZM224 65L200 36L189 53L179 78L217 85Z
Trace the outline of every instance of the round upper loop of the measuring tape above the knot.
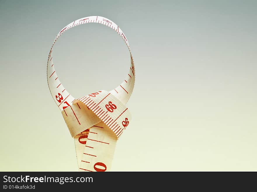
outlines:
M119 28L117 24L115 24L111 20L108 20L105 17L100 17L100 16L84 17L74 22L71 22L66 27L64 27L56 36L53 42L53 45L65 31L77 25L86 24L86 23L100 23L100 24L106 25L107 27L112 28L123 38L124 42L129 48L129 53L131 57L131 65L130 65L129 73L126 75L127 76L126 79L122 81L122 83L118 87L110 91L110 93L113 94L116 98L118 98L119 101L121 101L121 103L126 104L127 101L129 100L129 97L132 94L134 84L135 84L135 67L134 67L132 53L129 47L129 42L125 34L123 33L123 31ZM69 94L69 92L63 87L62 83L58 79L58 76L53 64L53 57L52 57L53 45L48 55L47 82L48 82L49 90L51 92L51 95L55 103L60 108L60 110L63 110L63 108L66 108L67 106L71 105L75 98Z

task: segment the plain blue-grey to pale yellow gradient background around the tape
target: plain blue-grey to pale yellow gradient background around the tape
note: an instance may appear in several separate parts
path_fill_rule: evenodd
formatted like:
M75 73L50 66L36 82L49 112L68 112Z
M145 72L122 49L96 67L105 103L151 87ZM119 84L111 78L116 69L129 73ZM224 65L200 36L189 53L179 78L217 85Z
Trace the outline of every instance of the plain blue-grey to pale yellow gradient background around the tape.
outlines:
M77 171L46 64L63 27L100 15L125 32L136 69L112 171L257 171L256 10L256 1L0 0L0 170ZM65 32L53 59L75 98L114 89L130 65L122 38L100 24Z

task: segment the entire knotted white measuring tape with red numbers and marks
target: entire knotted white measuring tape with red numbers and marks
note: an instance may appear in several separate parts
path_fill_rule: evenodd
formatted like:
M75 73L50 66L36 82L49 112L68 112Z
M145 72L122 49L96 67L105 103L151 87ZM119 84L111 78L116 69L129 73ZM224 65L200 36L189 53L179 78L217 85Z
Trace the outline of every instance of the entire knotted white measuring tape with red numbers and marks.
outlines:
M100 23L115 30L129 48L131 64L126 79L115 89L96 91L75 99L58 79L52 50L61 34L72 27L86 23ZM56 36L53 45L47 61L48 87L74 138L79 171L109 171L117 140L131 121L129 110L125 106L135 84L135 67L129 42L117 24L105 17L90 16L64 27Z

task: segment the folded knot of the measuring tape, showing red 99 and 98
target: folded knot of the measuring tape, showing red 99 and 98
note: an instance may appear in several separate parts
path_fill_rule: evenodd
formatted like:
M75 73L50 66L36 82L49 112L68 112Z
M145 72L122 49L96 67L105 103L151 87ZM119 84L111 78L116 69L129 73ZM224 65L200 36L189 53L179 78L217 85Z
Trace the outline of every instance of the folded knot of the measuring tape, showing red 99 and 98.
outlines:
M72 137L103 121L117 136L131 119L128 108L108 91L98 91L73 101L62 111Z

